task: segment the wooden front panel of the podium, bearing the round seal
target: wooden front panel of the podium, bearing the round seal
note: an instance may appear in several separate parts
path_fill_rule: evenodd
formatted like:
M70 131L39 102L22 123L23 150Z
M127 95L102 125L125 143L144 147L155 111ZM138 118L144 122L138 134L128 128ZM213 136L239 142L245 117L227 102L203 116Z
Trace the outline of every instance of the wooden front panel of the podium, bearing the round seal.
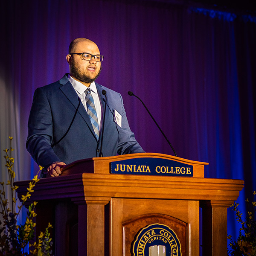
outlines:
M171 229L180 241L183 256L199 255L199 201L112 198L110 221L111 256L140 255L133 252L136 239L143 229L155 224L163 224L167 230L157 235L153 229L155 234L149 235L154 235L151 240L148 237L149 242L155 244L157 241L154 239L157 238L162 239L163 244L166 243L166 248L170 244L175 246L172 241L175 235L167 236L168 229Z

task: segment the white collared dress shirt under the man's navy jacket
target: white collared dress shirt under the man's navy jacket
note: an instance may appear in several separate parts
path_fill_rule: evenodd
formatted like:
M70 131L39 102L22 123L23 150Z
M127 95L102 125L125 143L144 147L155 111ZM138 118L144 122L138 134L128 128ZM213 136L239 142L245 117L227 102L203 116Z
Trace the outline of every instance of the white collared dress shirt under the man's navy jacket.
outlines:
M86 101L85 101L85 93L84 91L87 88L90 88L91 90L91 95L93 97L93 101L94 101L94 105L96 108L96 113L97 113L97 118L98 118L98 123L99 123L99 129L101 128L101 119L102 119L102 107L101 107L101 103L99 100L99 94L96 88L96 84L93 81L89 87L86 87L84 84L80 83L79 81L76 81L75 79L73 79L73 77L70 76L70 74L68 75L68 80L70 81L70 83L72 84L72 86L74 87L74 89L76 90L77 95L79 96L79 98L81 99L82 104L84 105L85 110L88 113L87 110L87 106L86 106Z

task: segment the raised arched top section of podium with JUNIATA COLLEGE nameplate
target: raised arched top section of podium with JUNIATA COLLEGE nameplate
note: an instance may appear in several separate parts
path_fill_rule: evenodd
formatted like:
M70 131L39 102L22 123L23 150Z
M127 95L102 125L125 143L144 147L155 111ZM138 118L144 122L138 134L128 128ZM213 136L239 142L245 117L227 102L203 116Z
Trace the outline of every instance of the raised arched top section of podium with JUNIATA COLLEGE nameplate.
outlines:
M187 173L192 172L190 177L204 177L205 165L208 165L208 163L167 154L136 153L78 160L62 168L61 175L84 172L97 174L118 173L117 169L120 167L122 171L119 170L119 174L148 175L149 173L147 172L151 172L151 175L189 176L182 175L183 172L187 171Z

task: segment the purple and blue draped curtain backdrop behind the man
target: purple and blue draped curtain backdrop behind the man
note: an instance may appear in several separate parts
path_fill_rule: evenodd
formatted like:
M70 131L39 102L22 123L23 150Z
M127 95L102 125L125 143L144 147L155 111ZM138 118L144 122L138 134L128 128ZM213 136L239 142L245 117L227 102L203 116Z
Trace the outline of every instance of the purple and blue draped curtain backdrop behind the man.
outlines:
M13 136L16 180L38 166L26 151L37 87L69 71L70 41L98 44L98 83L122 94L132 131L147 152L173 154L131 90L140 96L178 157L208 162L205 177L243 179L256 190L256 17L160 1L1 1L0 180ZM61 105L61 102L60 102ZM238 235L228 209L228 233Z

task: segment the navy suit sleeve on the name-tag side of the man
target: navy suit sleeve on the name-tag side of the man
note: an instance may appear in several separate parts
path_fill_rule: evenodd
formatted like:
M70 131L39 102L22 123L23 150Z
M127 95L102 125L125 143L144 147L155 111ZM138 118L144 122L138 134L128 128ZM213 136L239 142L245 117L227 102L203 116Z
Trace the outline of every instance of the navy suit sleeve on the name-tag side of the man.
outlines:
M121 100L121 112L122 115L122 128L119 129L119 140L118 140L118 154L134 154L145 152L140 144L135 139L134 133L131 131L127 116L125 113L125 108L123 105L122 96L119 94Z

